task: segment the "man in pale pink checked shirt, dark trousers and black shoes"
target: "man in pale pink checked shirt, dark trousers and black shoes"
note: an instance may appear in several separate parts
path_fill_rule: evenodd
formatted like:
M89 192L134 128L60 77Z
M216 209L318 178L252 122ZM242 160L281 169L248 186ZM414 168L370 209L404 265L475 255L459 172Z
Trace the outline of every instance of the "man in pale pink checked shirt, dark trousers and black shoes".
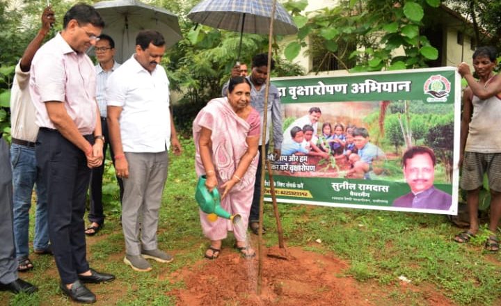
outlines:
M90 168L101 166L104 143L95 68L85 51L103 27L95 8L73 6L64 16L63 31L38 50L31 65L30 92L40 127L35 158L47 182L52 252L61 290L80 303L96 300L84 282L115 279L89 267L84 234Z

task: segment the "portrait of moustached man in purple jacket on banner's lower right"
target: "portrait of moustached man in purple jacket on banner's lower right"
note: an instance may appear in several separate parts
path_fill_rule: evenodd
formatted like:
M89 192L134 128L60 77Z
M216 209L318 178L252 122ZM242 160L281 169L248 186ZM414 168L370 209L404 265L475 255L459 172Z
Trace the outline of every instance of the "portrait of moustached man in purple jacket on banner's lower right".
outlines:
M411 192L393 202L393 207L448 210L452 196L434 187L436 157L429 147L410 147L402 157L404 177Z

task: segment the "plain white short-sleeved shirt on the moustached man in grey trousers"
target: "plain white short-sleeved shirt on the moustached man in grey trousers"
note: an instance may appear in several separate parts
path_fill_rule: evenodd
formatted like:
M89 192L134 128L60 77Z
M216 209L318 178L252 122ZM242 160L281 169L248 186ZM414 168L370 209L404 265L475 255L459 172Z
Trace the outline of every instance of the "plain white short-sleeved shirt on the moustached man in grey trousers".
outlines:
M150 74L134 55L108 78L106 104L122 106L120 136L124 152L162 152L170 147L167 74L160 65Z

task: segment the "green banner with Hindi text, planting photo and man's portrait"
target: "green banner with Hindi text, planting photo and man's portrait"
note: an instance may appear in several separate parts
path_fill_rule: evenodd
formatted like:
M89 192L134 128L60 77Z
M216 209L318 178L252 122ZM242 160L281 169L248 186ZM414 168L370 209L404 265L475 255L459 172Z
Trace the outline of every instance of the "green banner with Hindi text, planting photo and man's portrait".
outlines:
M454 67L271 82L283 106L282 155L268 156L278 202L457 214ZM271 200L268 176L265 187Z

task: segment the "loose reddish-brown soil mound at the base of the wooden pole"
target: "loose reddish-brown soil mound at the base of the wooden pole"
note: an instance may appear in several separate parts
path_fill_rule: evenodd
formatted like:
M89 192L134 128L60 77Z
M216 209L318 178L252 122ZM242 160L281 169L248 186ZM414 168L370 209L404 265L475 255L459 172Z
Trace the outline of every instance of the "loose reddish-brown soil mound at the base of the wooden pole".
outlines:
M244 259L236 250L228 248L223 248L217 259L202 259L169 275L173 282L182 280L186 284L186 289L176 289L169 294L177 298L177 305L183 306L414 305L417 302L414 293L419 296L419 305L454 305L431 284L416 286L399 280L389 285L357 282L343 275L348 264L332 255L301 248L287 248L284 252L276 246L264 248L263 253L259 295L257 257Z

